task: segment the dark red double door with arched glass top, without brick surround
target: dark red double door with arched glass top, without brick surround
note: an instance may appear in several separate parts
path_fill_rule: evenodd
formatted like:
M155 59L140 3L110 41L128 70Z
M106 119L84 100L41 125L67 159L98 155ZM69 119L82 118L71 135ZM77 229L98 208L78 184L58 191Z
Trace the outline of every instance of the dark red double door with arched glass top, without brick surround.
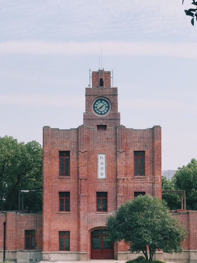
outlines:
M114 259L114 243L106 229L91 232L91 259Z

